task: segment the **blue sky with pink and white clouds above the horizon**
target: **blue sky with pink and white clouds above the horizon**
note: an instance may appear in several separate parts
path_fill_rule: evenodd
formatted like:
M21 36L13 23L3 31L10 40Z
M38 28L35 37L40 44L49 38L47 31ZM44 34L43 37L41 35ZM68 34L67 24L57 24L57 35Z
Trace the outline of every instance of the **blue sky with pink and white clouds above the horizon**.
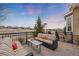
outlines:
M65 26L64 14L68 12L66 3L7 3L8 14L0 23L4 26L34 27L38 16L46 28L63 28Z

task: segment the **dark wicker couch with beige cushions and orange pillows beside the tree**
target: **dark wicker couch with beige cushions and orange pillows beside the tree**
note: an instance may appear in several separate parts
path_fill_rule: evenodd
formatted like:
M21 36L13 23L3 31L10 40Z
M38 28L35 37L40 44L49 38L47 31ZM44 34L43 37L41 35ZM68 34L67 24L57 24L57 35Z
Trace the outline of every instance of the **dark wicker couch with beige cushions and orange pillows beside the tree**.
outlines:
M55 50L58 47L58 41L56 40L55 33L53 34L39 33L35 39L43 42L42 45L44 45L49 49Z

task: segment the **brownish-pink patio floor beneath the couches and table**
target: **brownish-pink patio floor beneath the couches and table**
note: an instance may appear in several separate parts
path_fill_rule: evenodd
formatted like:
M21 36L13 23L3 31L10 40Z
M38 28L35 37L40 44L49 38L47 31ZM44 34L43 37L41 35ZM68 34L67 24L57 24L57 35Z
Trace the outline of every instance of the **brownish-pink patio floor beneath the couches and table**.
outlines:
M79 56L79 46L73 45L64 42L58 42L58 48L53 51L44 46L41 46L41 53L37 53L37 51L33 48L29 49L34 53L34 56ZM26 48L27 45L24 45Z

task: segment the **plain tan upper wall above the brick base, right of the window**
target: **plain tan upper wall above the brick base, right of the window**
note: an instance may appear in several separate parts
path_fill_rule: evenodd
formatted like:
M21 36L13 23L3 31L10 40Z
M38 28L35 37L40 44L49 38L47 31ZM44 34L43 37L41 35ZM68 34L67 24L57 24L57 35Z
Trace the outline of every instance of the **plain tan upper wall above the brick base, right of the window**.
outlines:
M79 35L79 8L73 10L73 35Z

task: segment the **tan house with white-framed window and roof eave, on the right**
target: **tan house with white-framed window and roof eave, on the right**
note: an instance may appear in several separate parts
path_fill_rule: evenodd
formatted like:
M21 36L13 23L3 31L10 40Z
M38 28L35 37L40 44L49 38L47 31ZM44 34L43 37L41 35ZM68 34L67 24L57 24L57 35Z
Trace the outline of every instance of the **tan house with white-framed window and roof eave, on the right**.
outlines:
M73 33L75 43L79 43L79 4L73 3L69 5L69 12L64 15L66 20L66 33Z

